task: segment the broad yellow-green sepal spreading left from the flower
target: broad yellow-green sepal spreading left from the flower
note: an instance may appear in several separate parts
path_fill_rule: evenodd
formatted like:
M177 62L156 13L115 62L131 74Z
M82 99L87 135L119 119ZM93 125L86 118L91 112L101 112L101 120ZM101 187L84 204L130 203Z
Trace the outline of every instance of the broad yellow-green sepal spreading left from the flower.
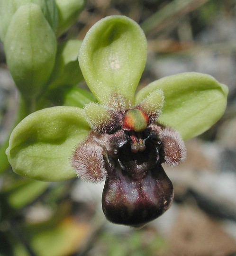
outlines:
M89 131L83 110L52 107L38 110L13 130L6 151L15 173L42 181L75 176L70 158Z

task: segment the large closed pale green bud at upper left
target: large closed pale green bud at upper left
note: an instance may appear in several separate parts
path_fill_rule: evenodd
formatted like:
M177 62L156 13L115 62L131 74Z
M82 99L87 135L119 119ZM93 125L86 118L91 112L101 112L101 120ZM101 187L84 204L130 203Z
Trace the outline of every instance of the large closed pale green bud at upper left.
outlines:
M52 72L56 38L41 8L22 5L13 15L4 40L9 71L25 98L36 96Z

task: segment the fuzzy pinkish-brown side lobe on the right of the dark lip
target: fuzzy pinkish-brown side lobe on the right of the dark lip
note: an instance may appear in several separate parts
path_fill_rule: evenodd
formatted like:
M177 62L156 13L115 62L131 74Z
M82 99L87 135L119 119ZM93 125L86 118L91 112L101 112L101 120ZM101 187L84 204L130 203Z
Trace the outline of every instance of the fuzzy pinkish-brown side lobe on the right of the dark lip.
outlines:
M160 138L163 143L165 163L171 166L176 166L185 160L185 144L177 131L168 127L163 128Z

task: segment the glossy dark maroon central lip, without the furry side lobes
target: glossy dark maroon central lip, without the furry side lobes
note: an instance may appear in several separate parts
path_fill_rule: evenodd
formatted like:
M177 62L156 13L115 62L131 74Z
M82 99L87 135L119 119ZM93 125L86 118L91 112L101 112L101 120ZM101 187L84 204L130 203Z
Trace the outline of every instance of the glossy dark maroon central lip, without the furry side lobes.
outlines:
M108 176L102 208L113 223L142 227L171 206L173 186L161 165L161 142L142 133L145 150L134 152L132 138L127 137L115 155L105 157Z

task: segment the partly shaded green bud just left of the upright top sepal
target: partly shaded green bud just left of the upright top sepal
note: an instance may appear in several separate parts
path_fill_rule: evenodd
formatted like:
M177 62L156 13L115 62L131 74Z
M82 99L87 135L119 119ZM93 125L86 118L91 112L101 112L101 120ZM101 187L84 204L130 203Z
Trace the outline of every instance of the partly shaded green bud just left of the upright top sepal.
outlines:
M68 40L57 49L54 70L49 81L49 89L63 85L76 85L83 80L78 63L82 41Z

